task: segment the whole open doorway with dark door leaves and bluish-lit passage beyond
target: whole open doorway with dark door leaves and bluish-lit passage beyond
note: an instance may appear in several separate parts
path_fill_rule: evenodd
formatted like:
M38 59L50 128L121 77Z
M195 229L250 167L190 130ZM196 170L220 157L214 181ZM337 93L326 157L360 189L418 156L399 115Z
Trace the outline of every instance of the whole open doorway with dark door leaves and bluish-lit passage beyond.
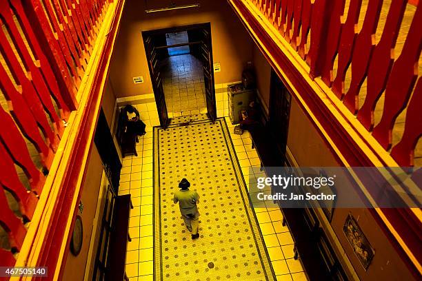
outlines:
M170 123L169 113L206 112L215 121L210 23L152 30L142 36L161 127Z

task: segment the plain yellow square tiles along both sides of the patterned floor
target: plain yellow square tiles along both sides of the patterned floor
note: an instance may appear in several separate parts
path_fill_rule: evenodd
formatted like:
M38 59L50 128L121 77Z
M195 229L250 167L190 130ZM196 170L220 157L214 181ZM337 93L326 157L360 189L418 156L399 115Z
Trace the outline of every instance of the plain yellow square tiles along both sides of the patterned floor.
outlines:
M154 114L156 112L152 112L151 116L155 116ZM151 121L145 118L145 115L149 116L150 113L143 114L143 121L147 124L147 134L140 138L137 145L138 157L127 156L123 160L119 187L119 194L132 194L134 205L129 229L132 242L128 243L126 258L126 272L131 281L153 280L152 128L148 126L158 124L157 120ZM251 165L260 165L257 152L252 149L248 132L241 136L232 134L234 126L228 118L226 121L243 178L248 185L249 176L263 176L262 172L250 171ZM277 280L307 280L300 258L293 259L292 236L288 227L282 225L283 214L279 207L270 201L259 202L259 205L254 204L254 207Z

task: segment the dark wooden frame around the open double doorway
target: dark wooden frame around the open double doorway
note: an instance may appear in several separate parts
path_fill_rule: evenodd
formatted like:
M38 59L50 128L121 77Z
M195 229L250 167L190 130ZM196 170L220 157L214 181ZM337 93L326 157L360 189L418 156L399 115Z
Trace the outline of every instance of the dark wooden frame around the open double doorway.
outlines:
M213 85L212 94L214 96L213 106L214 106L215 112L217 112L217 105L216 105L216 102L215 102L216 98L215 98L215 81L214 81L214 61L213 61L213 56L212 56L212 33L211 33L211 23L210 22L208 22L208 23L196 23L196 24L193 24L193 25L174 26L172 28L161 28L161 29L158 29L158 30L145 30L145 31L141 32L141 37L142 37L142 41L145 45L145 39L147 37L154 37L154 35L157 35L157 34L182 32L182 31L188 31L188 30L199 30L199 29L203 29L203 28L207 29L210 32L210 47L211 47L210 48L210 68L211 68L211 83ZM156 46L156 47L164 48L164 46ZM150 61L150 54L148 54L145 47L144 47L144 51L145 51L147 61ZM152 72L151 72L149 63L148 63L148 70L150 72L150 77L152 77ZM154 81L152 79L151 79L151 83L152 84L154 83ZM205 82L203 82L203 83L205 83ZM155 89L155 85L152 85L152 89L153 90ZM154 96L155 96L155 93L154 93ZM164 101L165 101L165 98L164 98ZM157 101L155 103L157 105ZM205 103L206 103L206 98L205 98ZM158 108L157 108L157 111L158 111ZM170 119L171 118L169 118L169 121L170 121Z

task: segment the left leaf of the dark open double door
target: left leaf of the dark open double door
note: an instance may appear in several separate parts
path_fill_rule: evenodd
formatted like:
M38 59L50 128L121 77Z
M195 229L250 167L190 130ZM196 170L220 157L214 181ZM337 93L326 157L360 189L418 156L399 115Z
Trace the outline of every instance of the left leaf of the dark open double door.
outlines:
M170 124L170 119L167 114L167 106L165 105L163 83L161 81L159 56L155 49L154 43L150 36L143 40L145 51L148 59L148 67L150 68L152 90L154 90L155 103L157 104L157 111L161 127L165 128Z

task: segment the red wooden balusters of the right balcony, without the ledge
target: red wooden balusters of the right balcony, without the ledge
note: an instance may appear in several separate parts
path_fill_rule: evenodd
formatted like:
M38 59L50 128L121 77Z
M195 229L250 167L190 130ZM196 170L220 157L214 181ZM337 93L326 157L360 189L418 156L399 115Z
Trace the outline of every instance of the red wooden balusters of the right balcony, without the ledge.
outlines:
M247 2L261 10L308 63L312 79L321 78L396 163L415 164L422 135L418 1Z

